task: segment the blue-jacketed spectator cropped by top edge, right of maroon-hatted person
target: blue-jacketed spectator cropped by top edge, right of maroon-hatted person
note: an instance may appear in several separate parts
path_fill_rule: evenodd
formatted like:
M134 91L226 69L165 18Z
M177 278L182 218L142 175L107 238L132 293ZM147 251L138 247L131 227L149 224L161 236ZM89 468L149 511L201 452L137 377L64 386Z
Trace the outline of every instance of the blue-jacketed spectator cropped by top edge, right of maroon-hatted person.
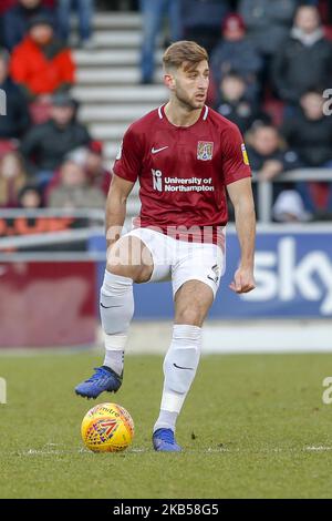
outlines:
M289 34L298 0L240 0L238 11L248 38L269 59Z

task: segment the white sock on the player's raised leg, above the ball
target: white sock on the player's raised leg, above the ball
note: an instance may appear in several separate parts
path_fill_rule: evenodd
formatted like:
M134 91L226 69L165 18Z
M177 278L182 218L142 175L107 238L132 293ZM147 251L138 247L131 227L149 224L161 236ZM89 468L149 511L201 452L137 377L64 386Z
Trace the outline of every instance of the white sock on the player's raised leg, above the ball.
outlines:
M132 278L105 270L100 310L106 350L104 366L121 375L127 330L134 314Z

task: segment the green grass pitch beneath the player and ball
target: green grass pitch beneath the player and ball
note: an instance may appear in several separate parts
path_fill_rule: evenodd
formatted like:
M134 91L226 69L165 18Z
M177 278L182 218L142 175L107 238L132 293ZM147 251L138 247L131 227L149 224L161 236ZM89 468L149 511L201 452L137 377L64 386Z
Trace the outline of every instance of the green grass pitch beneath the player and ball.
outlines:
M87 401L73 387L97 354L1 356L0 498L331 498L329 355L208 356L177 427L183 453L156 453L162 357L129 356L117 395ZM115 401L135 421L133 445L94 454L80 426Z

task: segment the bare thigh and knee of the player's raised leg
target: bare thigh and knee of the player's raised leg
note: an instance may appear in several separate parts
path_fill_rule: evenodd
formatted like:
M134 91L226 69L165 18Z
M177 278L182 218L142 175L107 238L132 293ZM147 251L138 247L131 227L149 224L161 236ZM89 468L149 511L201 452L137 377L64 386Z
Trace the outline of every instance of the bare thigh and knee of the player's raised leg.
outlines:
M147 282L154 269L152 252L139 237L124 235L108 249L106 269L135 283Z

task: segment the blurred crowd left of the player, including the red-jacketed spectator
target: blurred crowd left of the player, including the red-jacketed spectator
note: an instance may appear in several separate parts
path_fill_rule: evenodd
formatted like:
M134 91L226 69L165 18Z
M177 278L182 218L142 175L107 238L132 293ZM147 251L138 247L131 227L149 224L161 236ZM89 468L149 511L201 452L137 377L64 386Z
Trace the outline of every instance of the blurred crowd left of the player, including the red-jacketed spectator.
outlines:
M93 0L1 3L0 207L103 208L111 176L102 143L77 119L70 13L75 45L92 47Z

